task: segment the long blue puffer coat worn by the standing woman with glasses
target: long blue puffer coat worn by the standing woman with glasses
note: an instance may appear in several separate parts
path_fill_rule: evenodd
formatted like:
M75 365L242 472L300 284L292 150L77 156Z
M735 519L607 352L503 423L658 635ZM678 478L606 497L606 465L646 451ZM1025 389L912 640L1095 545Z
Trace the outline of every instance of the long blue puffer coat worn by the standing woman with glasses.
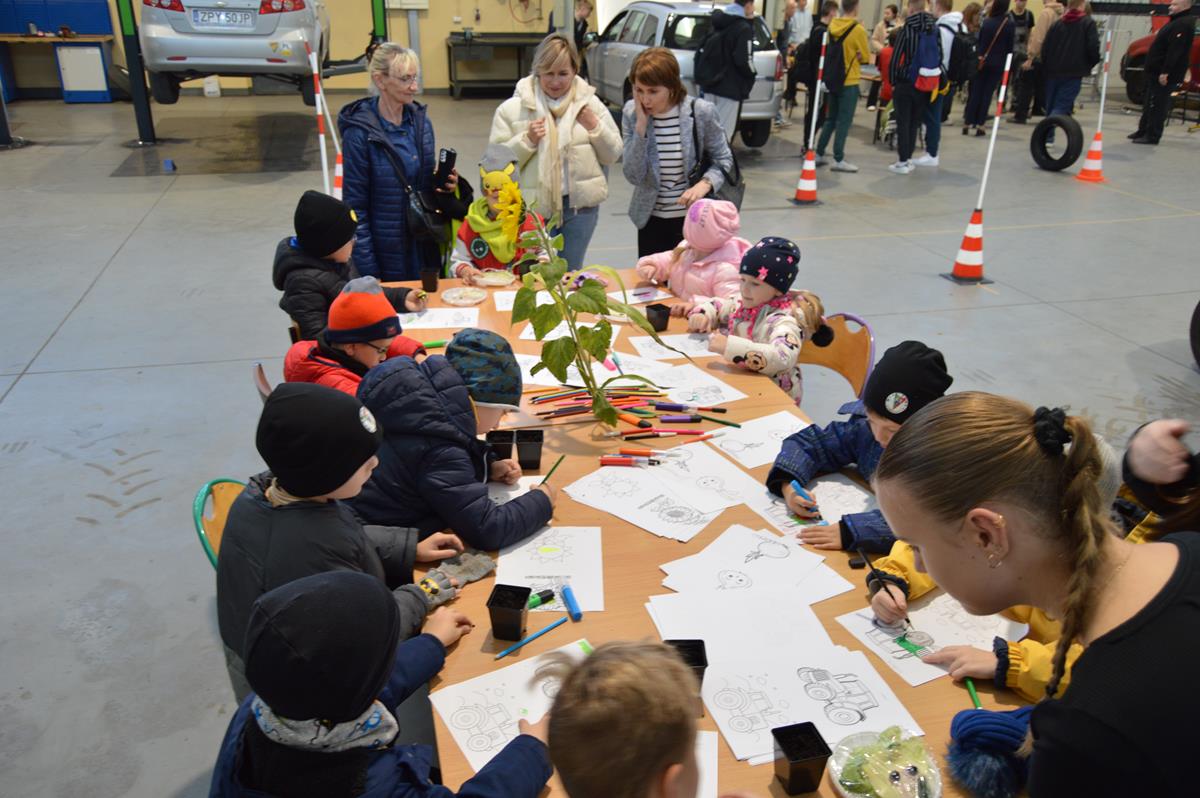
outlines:
M337 130L344 160L342 197L359 217L354 241L359 274L382 281L416 280L421 269L437 269L437 245L408 234L408 197L383 151L391 150L414 190L433 190L433 124L425 106L407 106L404 121L396 127L379 116L377 97L364 97L342 108Z

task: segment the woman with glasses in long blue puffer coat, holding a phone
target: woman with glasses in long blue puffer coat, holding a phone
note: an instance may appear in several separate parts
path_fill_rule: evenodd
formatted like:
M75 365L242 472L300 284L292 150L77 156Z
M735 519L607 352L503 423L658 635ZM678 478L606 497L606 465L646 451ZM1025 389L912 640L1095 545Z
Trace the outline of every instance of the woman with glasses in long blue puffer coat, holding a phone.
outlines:
M343 198L359 218L354 263L360 274L383 281L416 280L422 270L439 269L442 254L433 238L414 235L407 187L434 192L448 218L460 218L458 173L451 172L444 186L433 185L433 124L416 102L416 53L384 42L371 56L370 76L378 96L356 100L337 115ZM462 199L470 199L466 188Z

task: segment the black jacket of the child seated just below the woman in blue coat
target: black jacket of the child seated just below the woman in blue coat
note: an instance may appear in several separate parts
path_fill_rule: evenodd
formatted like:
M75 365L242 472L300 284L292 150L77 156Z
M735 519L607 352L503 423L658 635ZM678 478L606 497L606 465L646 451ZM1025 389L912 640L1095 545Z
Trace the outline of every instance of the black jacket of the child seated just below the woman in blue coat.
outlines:
M276 289L283 292L280 308L300 326L301 341L312 341L325 329L329 306L346 283L358 276L354 260L335 263L317 258L301 250L294 236L283 239L275 248L271 281ZM408 292L408 288L383 289L397 313L408 311L404 307Z

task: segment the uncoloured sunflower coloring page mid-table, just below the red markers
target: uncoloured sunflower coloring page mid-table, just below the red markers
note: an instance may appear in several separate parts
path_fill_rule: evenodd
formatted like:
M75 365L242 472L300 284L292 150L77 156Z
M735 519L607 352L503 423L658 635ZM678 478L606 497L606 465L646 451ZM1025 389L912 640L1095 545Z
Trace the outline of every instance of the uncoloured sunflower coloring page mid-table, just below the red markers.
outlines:
M580 504L611 512L660 538L684 542L718 516L703 514L665 490L649 468L602 466L564 490Z

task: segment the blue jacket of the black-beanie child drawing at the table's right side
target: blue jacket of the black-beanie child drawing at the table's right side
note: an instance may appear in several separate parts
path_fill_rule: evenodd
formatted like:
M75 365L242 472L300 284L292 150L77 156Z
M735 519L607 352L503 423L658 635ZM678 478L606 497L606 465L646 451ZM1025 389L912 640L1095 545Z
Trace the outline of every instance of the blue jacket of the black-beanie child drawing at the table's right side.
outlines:
M858 473L871 479L883 456L883 446L871 433L862 402L839 408L848 421L834 421L826 427L804 427L784 439L784 448L767 474L767 488L775 496L784 494L784 485L797 480L808 485L814 476L840 470L854 464ZM862 547L869 552L889 552L895 542L892 527L878 510L852 512L841 517L841 544L845 550Z

